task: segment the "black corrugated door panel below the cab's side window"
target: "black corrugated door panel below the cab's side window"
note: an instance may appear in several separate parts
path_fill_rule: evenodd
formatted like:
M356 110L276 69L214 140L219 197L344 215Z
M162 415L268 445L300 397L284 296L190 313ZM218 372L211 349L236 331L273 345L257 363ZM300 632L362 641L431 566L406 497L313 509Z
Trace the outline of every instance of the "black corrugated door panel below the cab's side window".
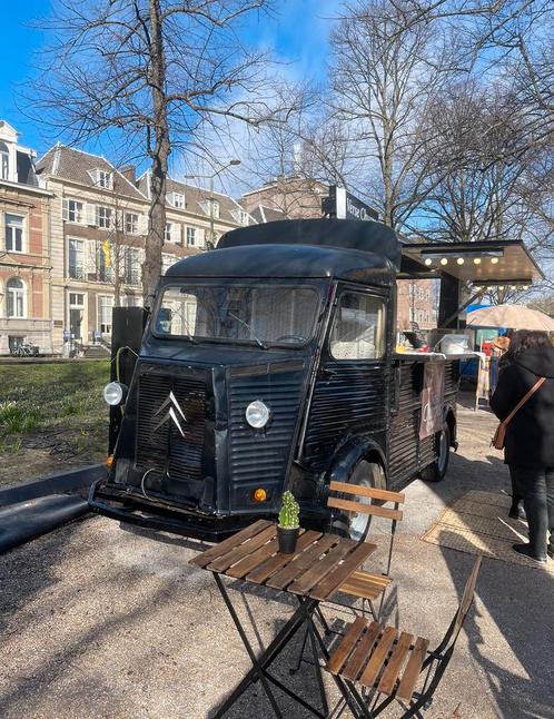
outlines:
M346 432L379 432L385 429L385 373L382 366L336 364L321 373L311 401L305 457L329 453Z

